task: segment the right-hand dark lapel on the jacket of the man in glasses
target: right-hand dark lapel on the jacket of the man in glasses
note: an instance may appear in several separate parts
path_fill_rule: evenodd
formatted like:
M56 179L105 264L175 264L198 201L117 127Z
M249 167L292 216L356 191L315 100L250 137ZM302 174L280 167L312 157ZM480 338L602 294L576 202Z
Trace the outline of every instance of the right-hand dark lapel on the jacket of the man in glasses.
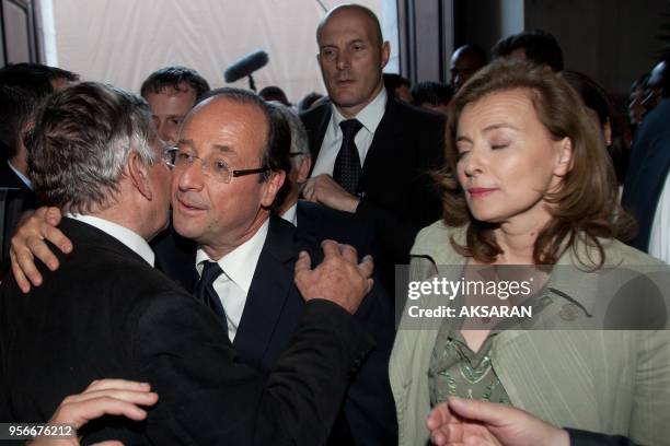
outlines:
M233 345L261 365L293 286L293 226L273 215Z

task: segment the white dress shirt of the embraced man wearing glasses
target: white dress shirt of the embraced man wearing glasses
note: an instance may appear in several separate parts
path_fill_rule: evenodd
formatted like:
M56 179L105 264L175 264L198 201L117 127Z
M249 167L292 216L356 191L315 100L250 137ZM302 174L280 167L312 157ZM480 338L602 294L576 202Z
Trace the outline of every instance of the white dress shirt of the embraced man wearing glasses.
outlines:
M223 274L215 280L212 286L226 310L230 342L235 339L240 319L242 319L246 296L254 278L254 272L256 271L256 265L258 263L265 238L267 237L268 226L269 220L266 220L249 240L217 261L221 270L223 270ZM199 248L196 254L198 275L203 274L204 261L213 260Z

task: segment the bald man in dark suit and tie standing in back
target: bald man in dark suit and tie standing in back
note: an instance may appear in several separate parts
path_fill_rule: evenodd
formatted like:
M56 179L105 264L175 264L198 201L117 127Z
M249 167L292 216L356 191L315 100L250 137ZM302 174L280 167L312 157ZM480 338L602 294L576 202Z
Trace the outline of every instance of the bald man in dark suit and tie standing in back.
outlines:
M392 283L393 263L408 262L418 231L441 214L428 172L442 163L443 119L386 94L389 43L367 8L331 10L316 39L332 103L302 115L314 160L303 196L372 222Z

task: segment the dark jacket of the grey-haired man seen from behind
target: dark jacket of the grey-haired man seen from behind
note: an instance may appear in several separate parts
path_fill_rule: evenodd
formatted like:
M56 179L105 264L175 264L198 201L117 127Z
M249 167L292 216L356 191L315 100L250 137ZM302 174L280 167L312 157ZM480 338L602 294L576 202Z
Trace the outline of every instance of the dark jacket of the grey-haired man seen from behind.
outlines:
M204 305L125 245L70 219L60 228L77 248L60 256L58 271L41 266L45 282L27 296L13 278L0 287L0 421L44 422L91 380L125 377L151 383L159 403L145 423L91 423L90 441L325 441L348 378L370 348L344 309L326 301L305 304L290 345L266 377L235 362Z

